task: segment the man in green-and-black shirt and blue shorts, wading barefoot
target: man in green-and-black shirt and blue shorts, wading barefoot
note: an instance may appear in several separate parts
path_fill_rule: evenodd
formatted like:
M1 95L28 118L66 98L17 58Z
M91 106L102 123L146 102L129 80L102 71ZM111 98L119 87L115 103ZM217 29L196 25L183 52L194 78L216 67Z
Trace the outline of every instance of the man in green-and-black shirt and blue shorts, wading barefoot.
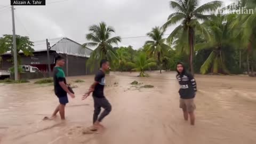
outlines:
M71 98L75 98L75 95L71 93L68 89L65 73L61 67L65 65L65 60L60 55L55 58L56 66L53 69L53 82L54 82L54 92L59 98L60 104L54 110L51 119L55 118L57 113L60 112L61 119L65 119L65 106L68 103L67 93Z

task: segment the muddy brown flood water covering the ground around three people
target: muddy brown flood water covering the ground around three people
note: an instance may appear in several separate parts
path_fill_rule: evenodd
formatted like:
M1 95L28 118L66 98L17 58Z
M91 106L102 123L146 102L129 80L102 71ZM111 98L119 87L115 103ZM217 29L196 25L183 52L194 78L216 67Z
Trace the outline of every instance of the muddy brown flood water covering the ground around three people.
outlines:
M103 120L106 129L83 134L92 124L93 100L81 101L93 76L68 77L76 98L69 98L66 121L42 121L58 105L49 84L0 84L0 143L256 143L256 78L246 76L196 75L196 125L183 121L179 109L179 85L174 72L111 73L107 76L106 97L113 110ZM154 85L135 90L137 80ZM117 85L113 86L115 82Z

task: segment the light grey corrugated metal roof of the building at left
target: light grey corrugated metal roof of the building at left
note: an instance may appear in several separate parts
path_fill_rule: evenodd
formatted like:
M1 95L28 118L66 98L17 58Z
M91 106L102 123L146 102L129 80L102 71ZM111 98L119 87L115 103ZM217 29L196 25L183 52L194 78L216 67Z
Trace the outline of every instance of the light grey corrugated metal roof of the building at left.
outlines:
M92 53L91 49L85 48L81 44L66 37L60 39L59 42L51 46L51 50L56 51L57 53L76 55L79 57L87 58L89 58Z

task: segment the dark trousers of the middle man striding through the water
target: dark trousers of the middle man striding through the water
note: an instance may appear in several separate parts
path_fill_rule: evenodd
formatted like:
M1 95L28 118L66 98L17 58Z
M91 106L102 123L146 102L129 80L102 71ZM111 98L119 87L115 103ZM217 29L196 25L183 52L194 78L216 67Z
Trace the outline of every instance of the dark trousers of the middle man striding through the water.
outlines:
M102 119L110 113L112 107L106 98L93 97L93 100L94 100L93 123L95 123L97 120L101 122ZM98 118L101 111L101 107L104 109L104 111L101 113L100 117Z

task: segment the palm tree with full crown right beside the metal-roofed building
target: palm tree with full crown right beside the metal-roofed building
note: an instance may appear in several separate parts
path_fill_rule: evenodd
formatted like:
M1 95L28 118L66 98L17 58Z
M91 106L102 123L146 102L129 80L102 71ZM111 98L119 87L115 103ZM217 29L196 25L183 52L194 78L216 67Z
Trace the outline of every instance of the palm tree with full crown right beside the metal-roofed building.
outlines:
M121 37L110 38L111 34L115 33L114 28L108 27L105 22L100 22L99 25L90 26L89 30L91 33L86 35L86 39L92 42L85 43L83 46L96 46L96 49L91 53L87 64L92 64L101 59L108 59L110 61L116 59L116 53L113 50L112 44L121 42Z

